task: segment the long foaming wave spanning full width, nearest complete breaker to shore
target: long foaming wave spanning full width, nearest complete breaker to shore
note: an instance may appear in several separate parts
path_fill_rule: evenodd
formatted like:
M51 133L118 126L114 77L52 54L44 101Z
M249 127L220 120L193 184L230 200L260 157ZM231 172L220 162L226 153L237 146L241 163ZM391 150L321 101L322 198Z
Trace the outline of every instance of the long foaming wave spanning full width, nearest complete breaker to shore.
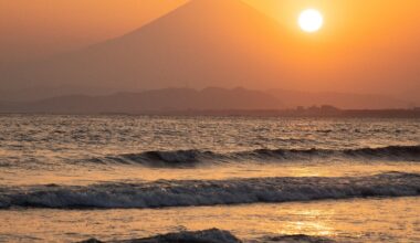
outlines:
M159 180L85 187L6 187L0 188L0 208L146 209L419 194L420 175L390 172L369 177Z

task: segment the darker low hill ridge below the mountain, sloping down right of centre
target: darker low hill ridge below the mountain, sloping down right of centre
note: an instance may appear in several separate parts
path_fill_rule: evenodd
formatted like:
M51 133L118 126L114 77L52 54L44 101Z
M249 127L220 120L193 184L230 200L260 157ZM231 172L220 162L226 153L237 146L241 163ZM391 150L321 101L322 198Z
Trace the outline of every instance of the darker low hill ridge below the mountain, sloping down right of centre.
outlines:
M69 95L35 102L0 103L1 113L146 113L158 110L280 109L282 102L245 88L165 88L141 93L88 96Z

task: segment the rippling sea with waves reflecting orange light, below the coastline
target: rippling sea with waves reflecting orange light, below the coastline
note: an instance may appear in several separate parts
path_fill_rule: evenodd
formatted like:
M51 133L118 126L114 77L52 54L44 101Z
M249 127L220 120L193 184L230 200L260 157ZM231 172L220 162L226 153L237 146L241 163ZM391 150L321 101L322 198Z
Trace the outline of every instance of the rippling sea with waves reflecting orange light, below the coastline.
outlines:
M1 115L0 130L0 242L420 242L420 119Z

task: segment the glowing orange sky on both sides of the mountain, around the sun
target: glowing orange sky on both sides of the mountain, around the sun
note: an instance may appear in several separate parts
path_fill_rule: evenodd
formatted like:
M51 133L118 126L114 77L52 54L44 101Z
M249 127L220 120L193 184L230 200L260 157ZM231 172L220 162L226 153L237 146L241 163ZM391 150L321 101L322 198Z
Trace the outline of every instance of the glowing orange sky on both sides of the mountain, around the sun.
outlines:
M335 68L343 55L351 73L364 67L419 92L420 1L418 0L243 0L270 15L294 42L296 55L307 68ZM0 62L27 62L77 50L135 30L187 0L0 0ZM324 15L319 32L297 27L298 13L315 8ZM234 14L234 12L232 12ZM322 54L319 54L322 53ZM293 59L293 56L292 56ZM316 64L315 61L318 60ZM314 64L315 63L315 64ZM338 64L337 64L338 65ZM340 63L343 65L343 63ZM366 68L365 68L366 67ZM343 70L343 68L340 68ZM380 75L380 74L379 74ZM402 83L401 83L402 80ZM361 88L363 89L363 88ZM403 88L402 88L403 89ZM402 91L400 93L403 93ZM389 91L391 93L391 91Z

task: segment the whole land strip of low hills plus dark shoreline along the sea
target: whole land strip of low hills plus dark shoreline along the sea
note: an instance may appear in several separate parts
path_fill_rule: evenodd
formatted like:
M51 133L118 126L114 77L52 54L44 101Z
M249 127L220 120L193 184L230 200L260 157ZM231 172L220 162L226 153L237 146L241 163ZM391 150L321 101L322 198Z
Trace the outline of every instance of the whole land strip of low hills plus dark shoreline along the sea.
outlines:
M96 96L59 95L29 101L4 99L0 102L0 113L420 117L420 107L417 107L416 103L381 95L208 87L162 88Z

